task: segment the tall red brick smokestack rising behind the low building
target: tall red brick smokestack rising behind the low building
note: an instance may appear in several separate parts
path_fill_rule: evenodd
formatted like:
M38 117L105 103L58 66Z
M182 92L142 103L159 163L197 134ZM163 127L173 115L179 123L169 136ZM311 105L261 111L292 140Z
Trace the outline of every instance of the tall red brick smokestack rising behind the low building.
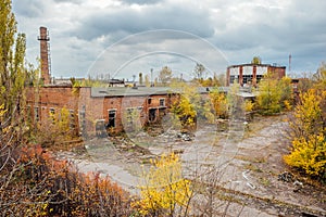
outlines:
M37 38L40 41L40 61L41 61L41 79L43 79L45 85L51 82L50 76L50 38L48 36L48 30L46 27L39 28L39 37Z

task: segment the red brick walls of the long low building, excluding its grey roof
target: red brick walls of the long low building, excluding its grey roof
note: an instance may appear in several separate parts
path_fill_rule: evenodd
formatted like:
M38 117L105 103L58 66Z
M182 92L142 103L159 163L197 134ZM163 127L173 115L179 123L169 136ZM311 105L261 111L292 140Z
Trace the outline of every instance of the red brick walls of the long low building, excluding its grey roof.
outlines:
M27 102L30 106L32 116L45 123L51 111L59 113L65 107L74 112L76 133L95 135L96 123L110 120L110 112L115 114L114 130L116 132L126 128L126 116L128 111L139 112L138 122L143 126L149 122L159 122L161 115L171 106L170 94L152 95L127 95L127 97L91 97L91 88L73 89L72 87L49 86L39 89L29 88ZM154 119L150 118L150 111L154 113Z

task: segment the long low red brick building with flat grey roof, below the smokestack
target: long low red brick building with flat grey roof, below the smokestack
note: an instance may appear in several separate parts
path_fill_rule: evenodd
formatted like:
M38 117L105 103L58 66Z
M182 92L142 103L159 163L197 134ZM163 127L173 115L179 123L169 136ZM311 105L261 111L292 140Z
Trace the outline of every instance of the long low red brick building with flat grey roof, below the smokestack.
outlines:
M75 133L93 135L98 122L115 132L160 122L174 99L168 88L72 88L48 85L30 88L27 104L35 123L50 114L70 112Z

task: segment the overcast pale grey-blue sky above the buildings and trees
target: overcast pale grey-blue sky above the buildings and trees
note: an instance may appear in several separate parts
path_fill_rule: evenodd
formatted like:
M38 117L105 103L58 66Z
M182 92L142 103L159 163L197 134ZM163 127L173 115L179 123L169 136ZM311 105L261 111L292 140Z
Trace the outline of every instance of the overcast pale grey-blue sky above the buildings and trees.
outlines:
M155 77L224 74L228 65L287 67L298 77L326 61L321 0L13 0L26 58L37 64L39 27L49 30L54 77ZM291 63L289 63L291 55Z

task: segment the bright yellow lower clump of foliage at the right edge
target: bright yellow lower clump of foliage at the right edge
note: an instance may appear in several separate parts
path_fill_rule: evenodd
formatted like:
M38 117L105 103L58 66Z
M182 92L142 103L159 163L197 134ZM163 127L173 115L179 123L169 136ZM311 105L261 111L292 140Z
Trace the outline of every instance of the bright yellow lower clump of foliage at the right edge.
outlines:
M323 176L326 173L326 138L312 135L309 139L296 138L292 151L284 158L290 166L301 168L308 175Z

